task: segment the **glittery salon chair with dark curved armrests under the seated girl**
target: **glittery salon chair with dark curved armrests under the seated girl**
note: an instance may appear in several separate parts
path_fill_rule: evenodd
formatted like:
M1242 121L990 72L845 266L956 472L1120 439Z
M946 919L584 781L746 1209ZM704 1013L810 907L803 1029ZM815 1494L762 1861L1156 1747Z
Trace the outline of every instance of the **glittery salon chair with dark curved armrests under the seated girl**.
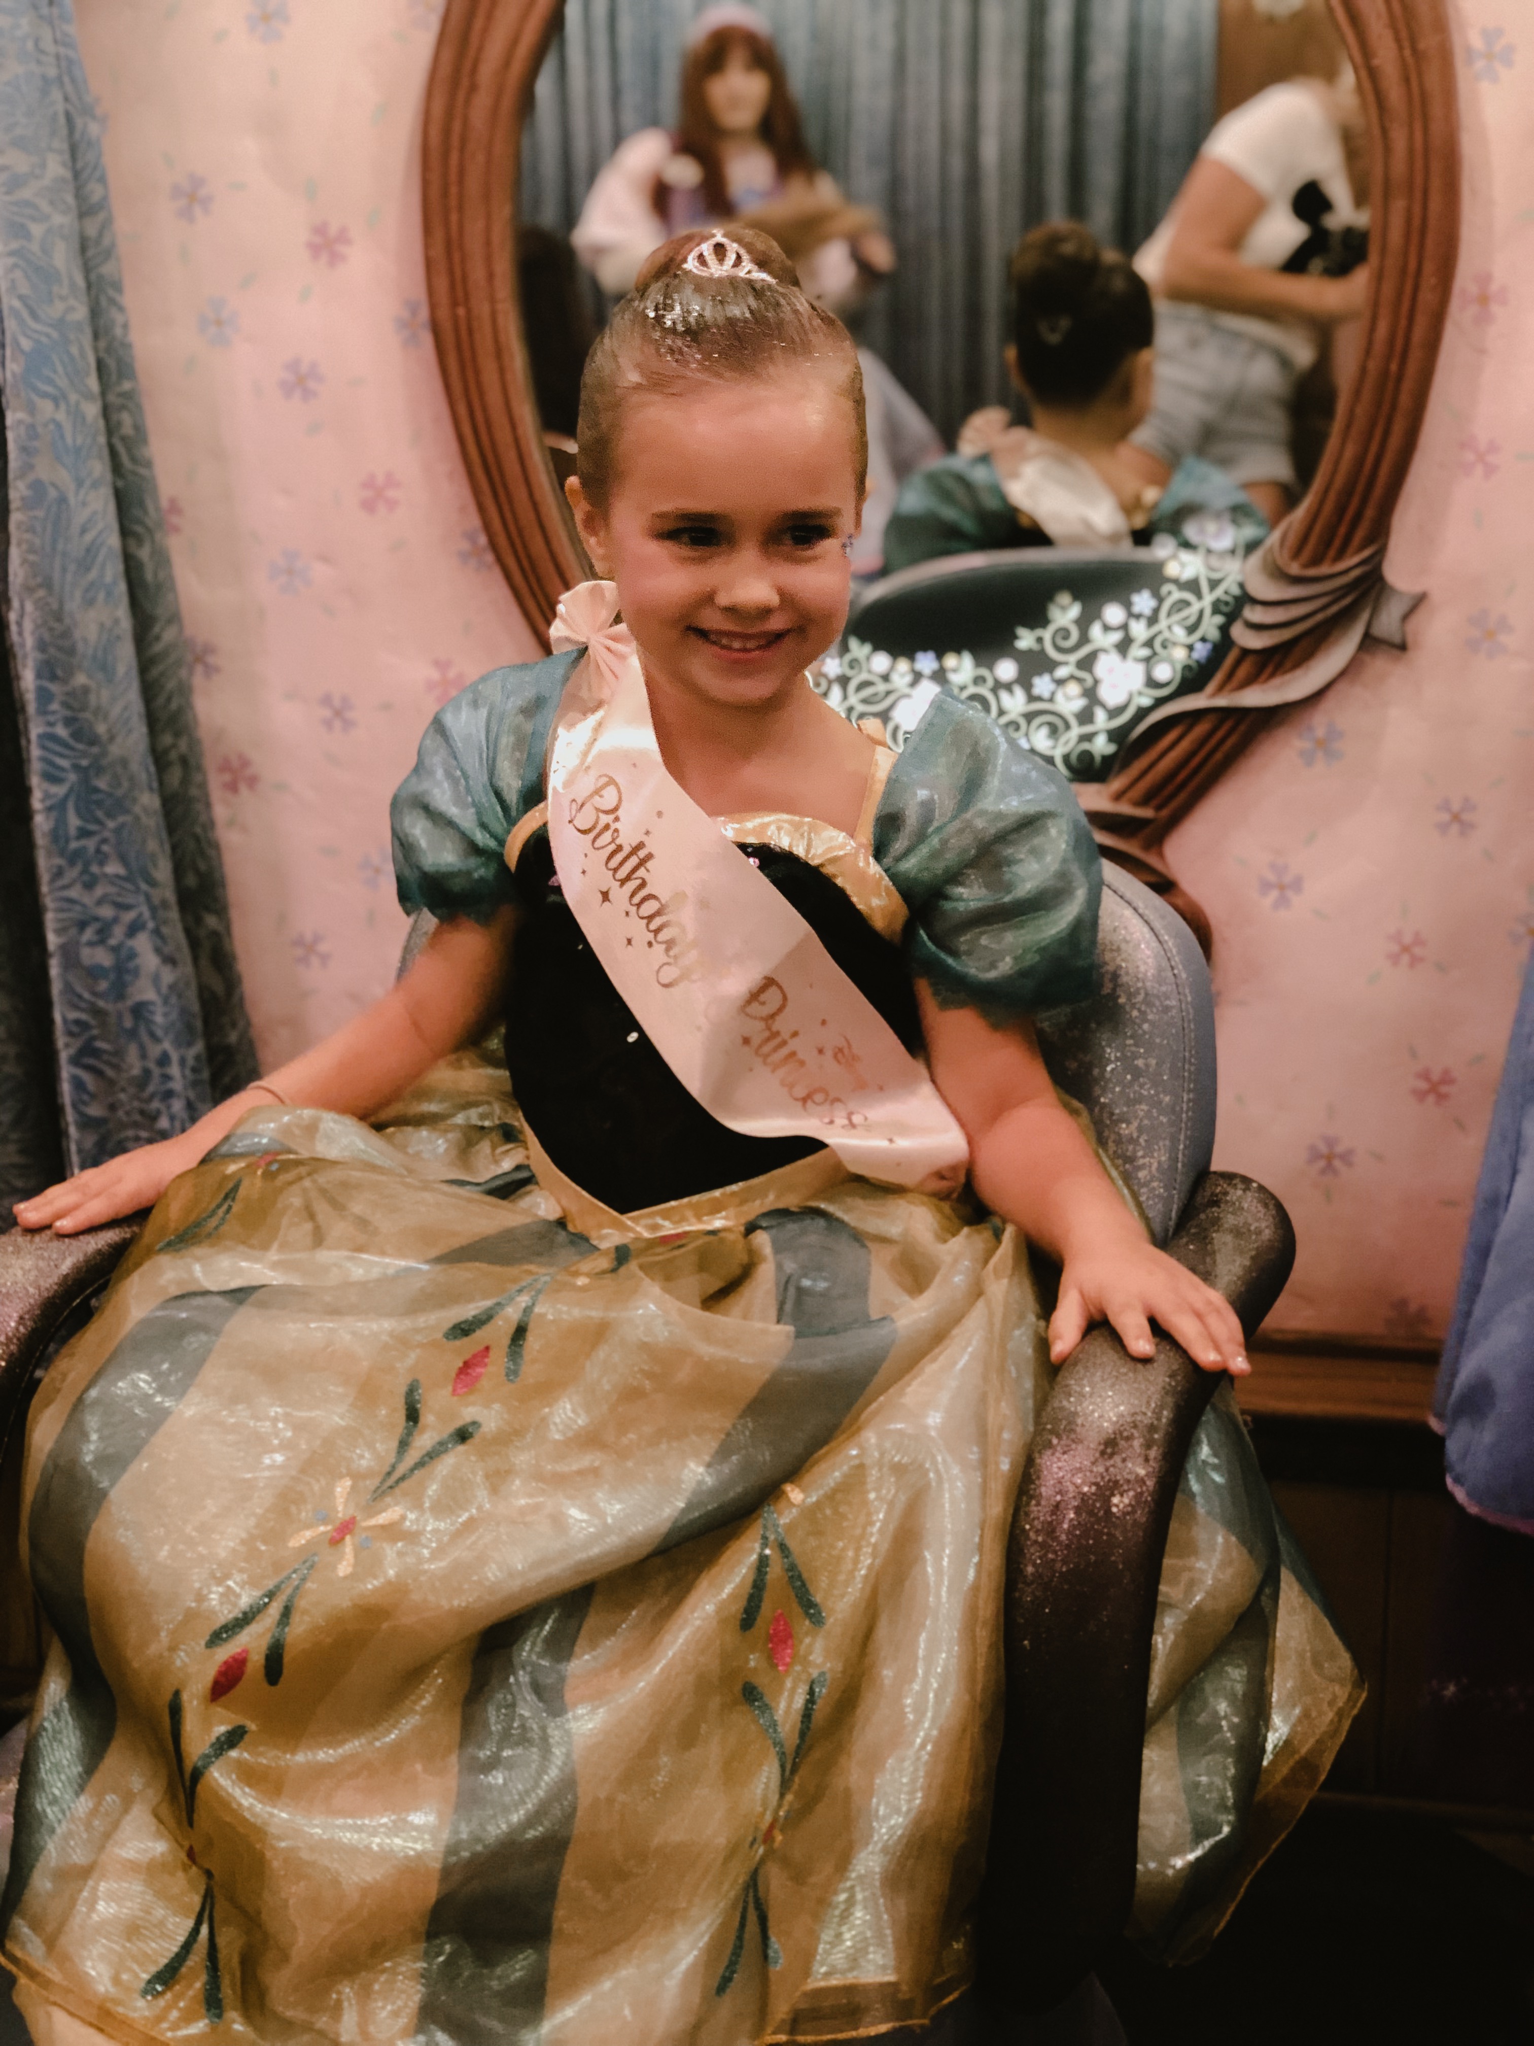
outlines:
M405 962L427 923L417 919ZM1092 1113L1156 1240L1215 1285L1252 1336L1289 1279L1293 1230L1266 1189L1209 1170L1209 970L1182 919L1115 868L1104 872L1100 968L1090 1003L1037 1019L1049 1072ZM6 1436L135 1234L121 1221L76 1238L0 1236ZM955 2038L1010 2046L1035 2036L1025 2013L1062 2003L1129 1919L1156 1586L1182 1461L1215 1385L1166 1336L1137 1363L1113 1330L1094 1328L1039 1418L1006 1575L984 2028L949 2026ZM14 1555L14 1530L0 1532Z

